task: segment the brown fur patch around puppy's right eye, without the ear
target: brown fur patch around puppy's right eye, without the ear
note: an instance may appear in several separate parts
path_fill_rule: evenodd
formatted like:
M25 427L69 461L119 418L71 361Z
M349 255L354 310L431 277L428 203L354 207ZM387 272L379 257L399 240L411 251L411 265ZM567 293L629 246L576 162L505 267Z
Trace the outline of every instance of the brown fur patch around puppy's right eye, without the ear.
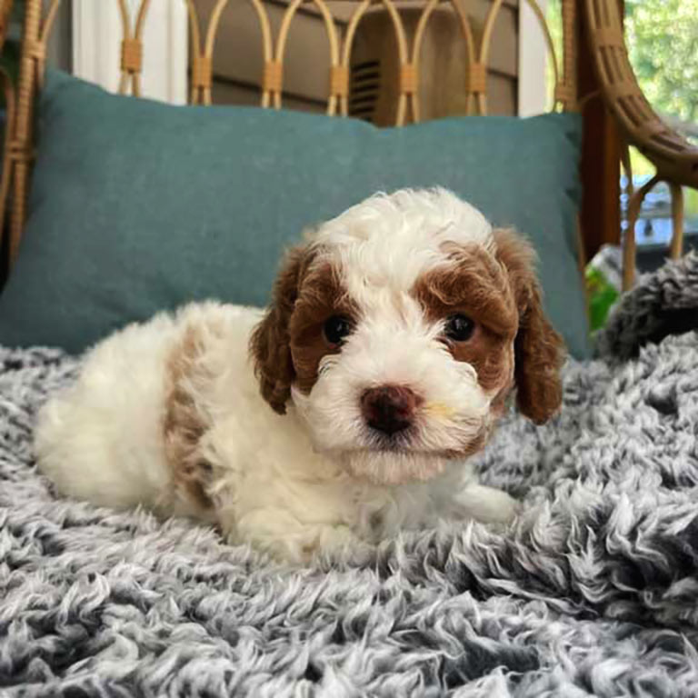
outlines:
M514 295L500 264L482 247L452 250L453 264L425 274L414 295L432 322L465 314L475 322L473 336L447 345L457 361L474 366L485 391L507 392L512 380L517 313Z

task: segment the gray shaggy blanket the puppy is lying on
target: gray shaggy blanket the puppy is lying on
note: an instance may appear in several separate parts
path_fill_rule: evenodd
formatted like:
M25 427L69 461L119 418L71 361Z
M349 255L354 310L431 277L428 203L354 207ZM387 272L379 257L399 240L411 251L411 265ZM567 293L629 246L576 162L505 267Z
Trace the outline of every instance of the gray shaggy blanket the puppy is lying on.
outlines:
M523 499L512 531L363 565L55 499L32 426L75 360L0 350L0 695L698 695L697 274L641 279L559 419L504 420L480 465Z

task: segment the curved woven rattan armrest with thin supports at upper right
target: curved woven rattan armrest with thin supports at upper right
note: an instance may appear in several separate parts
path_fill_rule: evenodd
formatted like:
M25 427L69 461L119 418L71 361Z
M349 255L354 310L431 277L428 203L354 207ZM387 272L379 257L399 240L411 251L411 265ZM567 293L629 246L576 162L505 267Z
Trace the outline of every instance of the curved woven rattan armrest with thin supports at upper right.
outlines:
M623 243L623 287L634 279L635 223L643 199L655 184L667 182L672 193L672 256L683 250L682 186L698 188L698 147L654 112L643 95L623 38L623 20L613 0L585 0L591 48L604 102L623 130L628 145L647 157L656 175L630 197Z

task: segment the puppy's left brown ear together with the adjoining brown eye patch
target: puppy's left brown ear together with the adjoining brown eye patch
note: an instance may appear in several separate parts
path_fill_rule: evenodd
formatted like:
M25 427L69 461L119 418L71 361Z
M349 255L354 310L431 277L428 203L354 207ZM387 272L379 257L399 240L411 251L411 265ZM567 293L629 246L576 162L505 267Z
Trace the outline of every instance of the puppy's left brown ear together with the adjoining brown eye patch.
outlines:
M262 395L279 414L285 413L291 385L309 393L320 360L339 352L326 341L324 322L335 314L350 319L355 314L334 267L329 262L314 266L315 260L316 251L307 247L287 255L272 304L250 342Z

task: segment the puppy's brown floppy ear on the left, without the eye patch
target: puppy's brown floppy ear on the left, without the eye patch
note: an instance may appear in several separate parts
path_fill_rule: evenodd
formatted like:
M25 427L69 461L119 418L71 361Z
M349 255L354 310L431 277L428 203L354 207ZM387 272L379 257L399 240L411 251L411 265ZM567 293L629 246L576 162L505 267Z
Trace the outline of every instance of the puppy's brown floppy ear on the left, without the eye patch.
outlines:
M272 303L250 338L250 354L262 396L279 414L286 412L294 382L288 324L308 260L306 247L295 247L286 254L274 282Z

